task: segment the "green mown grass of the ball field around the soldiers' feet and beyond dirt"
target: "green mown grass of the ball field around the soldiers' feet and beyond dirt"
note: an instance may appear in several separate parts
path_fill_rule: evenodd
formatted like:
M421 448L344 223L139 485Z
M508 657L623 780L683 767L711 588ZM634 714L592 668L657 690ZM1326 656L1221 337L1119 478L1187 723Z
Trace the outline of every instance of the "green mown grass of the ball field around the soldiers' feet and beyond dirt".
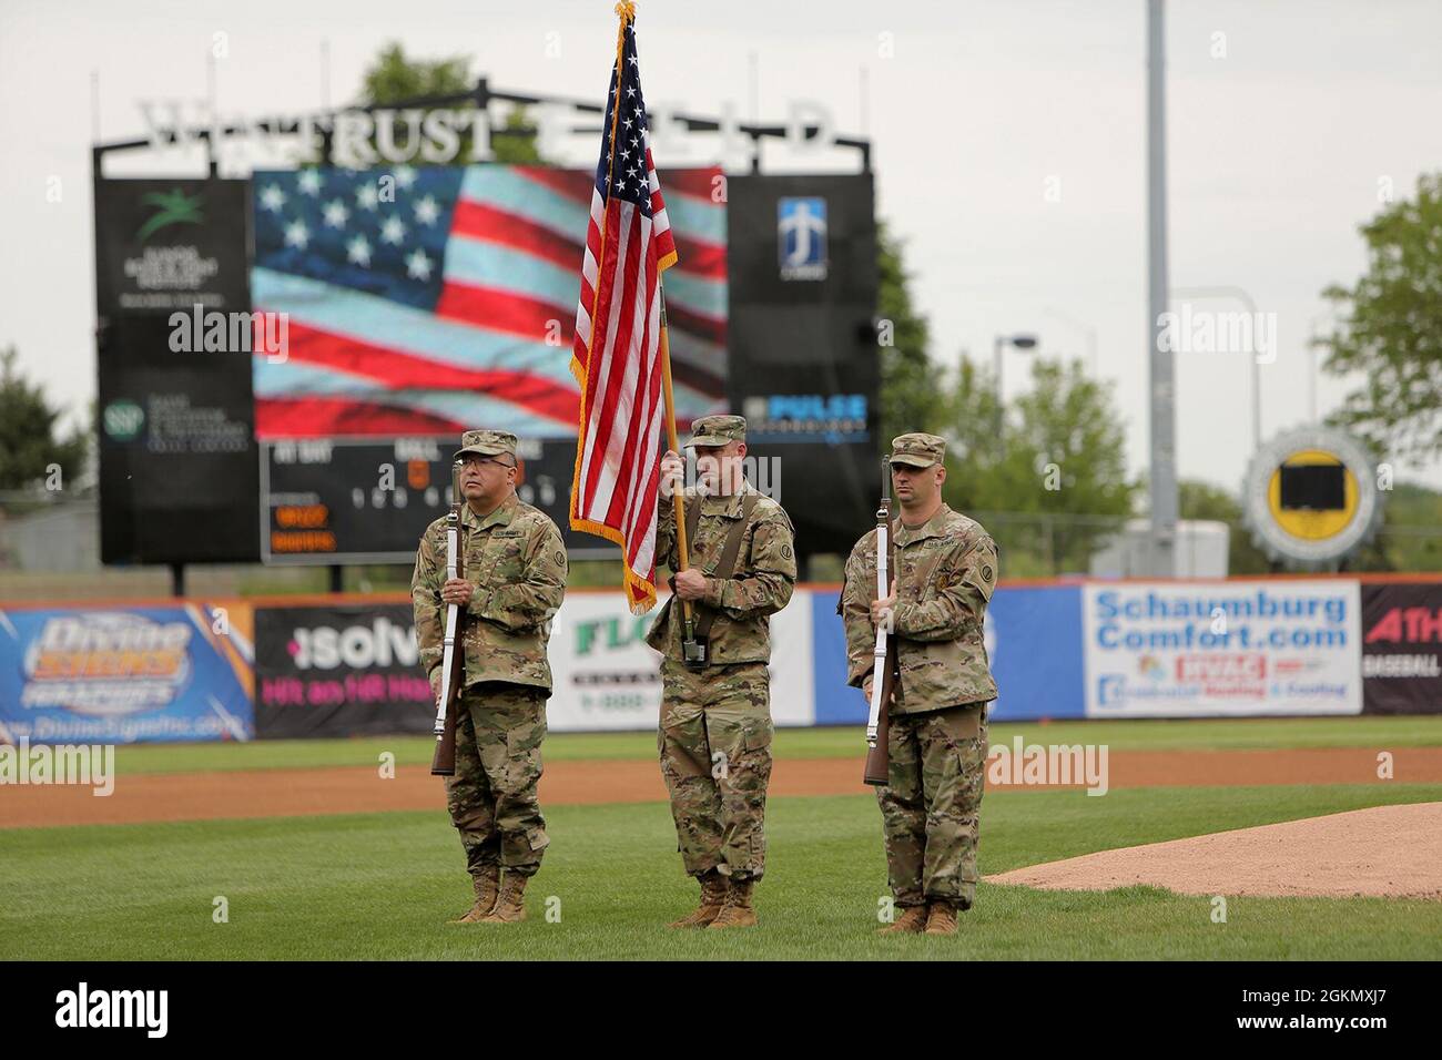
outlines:
M996 727L994 740L1009 738ZM1008 727L1009 728L1009 727ZM1015 727L1028 740L1122 747L1405 747L1442 743L1442 720L1107 723ZM1105 734L1105 736L1103 736ZM424 761L425 740L125 748L121 767L242 769ZM795 731L777 754L855 754L854 731ZM650 757L646 736L555 737L552 760ZM169 756L169 757L167 757ZM983 874L1090 851L1399 802L1442 785L994 792ZM552 845L512 927L450 926L469 903L460 844L434 812L0 831L6 959L1438 959L1442 903L1229 898L1149 887L1109 893L982 884L950 939L874 935L887 893L868 796L779 798L767 816L761 926L672 932L695 885L663 803L555 806ZM213 901L229 923L213 923ZM548 909L558 919L548 920Z

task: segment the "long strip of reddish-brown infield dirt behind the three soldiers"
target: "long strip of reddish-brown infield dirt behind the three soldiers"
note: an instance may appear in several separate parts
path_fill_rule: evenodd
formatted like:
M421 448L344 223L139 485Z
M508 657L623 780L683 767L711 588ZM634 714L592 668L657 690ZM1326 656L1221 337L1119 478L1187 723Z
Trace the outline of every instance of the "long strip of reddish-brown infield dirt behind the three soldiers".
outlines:
M1394 780L1442 783L1442 747L1394 751ZM1014 774L1011 779L1027 779ZM1109 787L1210 787L1252 785L1392 783L1377 777L1373 748L1266 751L1116 751ZM1063 785L1015 785L988 776L989 790ZM1080 785L1066 785L1077 787ZM864 795L861 759L783 759L771 796ZM541 780L542 805L655 802L666 798L650 760L554 761ZM444 812L441 782L424 766L402 766L382 779L366 766L268 769L213 773L121 773L115 790L97 798L79 786L0 787L0 828L115 825L146 821L311 816L381 811Z

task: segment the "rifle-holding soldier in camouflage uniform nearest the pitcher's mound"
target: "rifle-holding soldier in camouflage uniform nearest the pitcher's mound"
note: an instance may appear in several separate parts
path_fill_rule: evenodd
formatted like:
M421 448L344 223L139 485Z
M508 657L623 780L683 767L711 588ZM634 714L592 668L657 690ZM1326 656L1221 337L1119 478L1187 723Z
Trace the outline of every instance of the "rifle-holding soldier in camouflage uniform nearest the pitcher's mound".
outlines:
M986 704L996 698L982 623L996 586L996 544L942 500L946 441L891 443L901 521L893 594L875 600L877 532L851 551L841 611L849 684L871 697L877 626L897 637L900 681L890 712L890 773L877 789L887 868L900 917L888 933L952 935L976 900L978 813L986 766Z

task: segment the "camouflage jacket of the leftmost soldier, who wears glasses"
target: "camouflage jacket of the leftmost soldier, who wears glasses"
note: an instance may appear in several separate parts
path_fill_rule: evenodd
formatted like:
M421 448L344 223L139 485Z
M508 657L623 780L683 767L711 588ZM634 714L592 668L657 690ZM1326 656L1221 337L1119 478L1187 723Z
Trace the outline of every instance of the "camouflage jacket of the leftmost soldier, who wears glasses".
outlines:
M545 515L512 495L486 518L461 508L463 577L476 591L461 616L466 645L466 685L509 681L551 688L545 646L551 617L565 596L565 545ZM415 551L411 603L421 665L433 673L441 665L446 636L446 519L425 528Z

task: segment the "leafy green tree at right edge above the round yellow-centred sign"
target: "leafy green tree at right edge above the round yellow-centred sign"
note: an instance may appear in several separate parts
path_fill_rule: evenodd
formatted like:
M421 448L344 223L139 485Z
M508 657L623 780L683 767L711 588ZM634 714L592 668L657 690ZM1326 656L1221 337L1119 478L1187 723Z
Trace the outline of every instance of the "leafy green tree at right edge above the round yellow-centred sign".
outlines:
M1442 173L1417 179L1416 199L1399 199L1360 226L1367 271L1348 290L1322 296L1343 316L1317 340L1324 366L1363 384L1330 420L1379 451L1442 453Z

